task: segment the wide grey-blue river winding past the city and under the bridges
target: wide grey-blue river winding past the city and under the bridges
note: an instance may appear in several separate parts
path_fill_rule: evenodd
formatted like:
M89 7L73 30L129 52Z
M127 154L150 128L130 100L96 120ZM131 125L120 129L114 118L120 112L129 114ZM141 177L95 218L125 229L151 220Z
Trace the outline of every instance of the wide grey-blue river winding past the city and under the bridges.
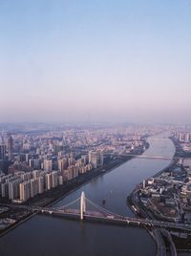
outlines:
M167 135L149 138L144 155L173 157L175 147ZM160 139L159 139L160 138ZM76 189L55 205L72 202L85 192L87 198L115 213L134 216L126 204L127 196L138 182L151 177L169 164L169 160L129 160L111 172ZM108 224L68 221L36 215L0 238L1 256L149 256L156 245L144 229Z

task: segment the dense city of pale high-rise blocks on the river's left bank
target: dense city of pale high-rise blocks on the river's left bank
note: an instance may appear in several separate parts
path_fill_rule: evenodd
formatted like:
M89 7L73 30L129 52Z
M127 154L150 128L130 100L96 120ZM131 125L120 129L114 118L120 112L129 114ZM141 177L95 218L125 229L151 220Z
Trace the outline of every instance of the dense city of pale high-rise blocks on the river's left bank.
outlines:
M5 128L0 141L0 202L45 206L85 181L140 155L145 127ZM5 227L31 212L1 208ZM9 221L10 220L10 221ZM10 223L9 223L10 222Z

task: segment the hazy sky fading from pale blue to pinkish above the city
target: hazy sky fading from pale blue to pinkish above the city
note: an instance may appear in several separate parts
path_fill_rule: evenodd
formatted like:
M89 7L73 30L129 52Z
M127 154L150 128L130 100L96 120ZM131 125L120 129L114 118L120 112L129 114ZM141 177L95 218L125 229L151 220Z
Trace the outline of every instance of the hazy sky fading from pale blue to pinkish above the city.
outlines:
M191 0L0 0L0 122L191 123Z

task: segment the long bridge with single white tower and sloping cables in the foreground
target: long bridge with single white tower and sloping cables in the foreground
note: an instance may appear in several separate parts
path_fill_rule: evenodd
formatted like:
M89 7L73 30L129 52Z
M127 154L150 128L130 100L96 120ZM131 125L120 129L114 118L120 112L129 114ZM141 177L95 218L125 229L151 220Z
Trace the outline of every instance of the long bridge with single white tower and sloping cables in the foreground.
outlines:
M23 208L31 210L32 212L49 214L51 216L59 216L65 219L74 219L80 221L98 222L103 224L117 224L117 225L133 225L138 227L161 227L167 229L176 229L178 231L191 232L191 224L180 224L163 222L157 220L141 219L134 217L125 217L116 214L86 198L85 193L71 203L59 207L35 207L28 205L5 204L13 208Z

